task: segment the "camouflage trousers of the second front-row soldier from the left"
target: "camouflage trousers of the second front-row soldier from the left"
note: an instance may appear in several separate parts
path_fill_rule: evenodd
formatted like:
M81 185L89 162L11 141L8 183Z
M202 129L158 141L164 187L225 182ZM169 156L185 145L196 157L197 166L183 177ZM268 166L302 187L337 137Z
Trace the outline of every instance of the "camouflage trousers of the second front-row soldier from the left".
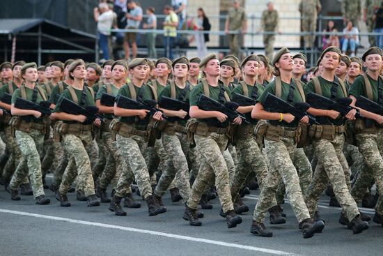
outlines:
M84 131L79 136L63 135L63 144L68 153L68 165L63 174L59 188L61 194L66 194L77 176L77 189L84 191L86 197L95 195L95 184L92 176L91 161L86 149L93 143L92 133Z

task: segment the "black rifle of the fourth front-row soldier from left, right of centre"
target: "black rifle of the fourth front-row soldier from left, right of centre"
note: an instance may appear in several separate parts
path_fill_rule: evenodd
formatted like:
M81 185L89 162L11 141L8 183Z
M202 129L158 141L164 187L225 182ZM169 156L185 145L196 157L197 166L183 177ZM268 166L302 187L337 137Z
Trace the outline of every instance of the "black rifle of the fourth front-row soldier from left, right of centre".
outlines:
M250 123L244 114L237 112L237 108L240 106L238 103L235 102L227 102L225 104L219 103L217 100L213 100L212 98L209 98L208 96L205 96L204 94L201 94L201 96L198 99L197 103L198 107L201 110L205 111L219 111L221 113L226 114L228 116L228 121L232 122L235 118L240 117L242 119L242 123ZM213 118L208 121L208 123L212 124L213 126L220 126L220 122Z

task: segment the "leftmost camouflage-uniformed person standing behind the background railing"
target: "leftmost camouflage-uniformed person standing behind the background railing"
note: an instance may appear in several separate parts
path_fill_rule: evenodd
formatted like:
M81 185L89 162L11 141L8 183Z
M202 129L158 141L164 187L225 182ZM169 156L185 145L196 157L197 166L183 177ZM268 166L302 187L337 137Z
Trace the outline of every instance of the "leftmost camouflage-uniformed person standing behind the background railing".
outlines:
M229 33L229 31L236 31L237 33ZM235 57L240 57L240 35L247 33L247 15L244 8L240 6L240 1L233 1L233 8L228 10L226 17L225 33L228 35L228 45L230 47L230 54Z

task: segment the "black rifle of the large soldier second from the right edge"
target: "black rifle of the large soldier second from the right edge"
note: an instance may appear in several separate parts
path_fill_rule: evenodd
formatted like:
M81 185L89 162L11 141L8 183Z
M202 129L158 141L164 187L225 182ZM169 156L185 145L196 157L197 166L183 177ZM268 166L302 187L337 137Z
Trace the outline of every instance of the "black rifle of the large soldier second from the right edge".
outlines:
M307 103L310 104L311 107L319 108L321 110L335 110L341 113L342 116L345 116L350 110L354 109L353 107L350 107L350 104L352 103L351 98L339 98L335 101L317 93L308 93ZM359 116L360 113L359 110L357 110L355 117Z

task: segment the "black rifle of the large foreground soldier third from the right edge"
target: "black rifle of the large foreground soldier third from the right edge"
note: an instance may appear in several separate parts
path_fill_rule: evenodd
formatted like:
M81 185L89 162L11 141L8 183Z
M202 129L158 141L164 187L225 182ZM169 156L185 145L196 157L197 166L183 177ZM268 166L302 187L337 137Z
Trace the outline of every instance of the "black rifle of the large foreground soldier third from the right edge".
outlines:
M292 105L291 103L276 97L272 93L267 93L263 107L268 108L271 112L290 113L295 116L298 121L304 116L308 116L308 123L319 124L318 121L316 121L315 116L306 112L310 107L308 103L295 103Z

